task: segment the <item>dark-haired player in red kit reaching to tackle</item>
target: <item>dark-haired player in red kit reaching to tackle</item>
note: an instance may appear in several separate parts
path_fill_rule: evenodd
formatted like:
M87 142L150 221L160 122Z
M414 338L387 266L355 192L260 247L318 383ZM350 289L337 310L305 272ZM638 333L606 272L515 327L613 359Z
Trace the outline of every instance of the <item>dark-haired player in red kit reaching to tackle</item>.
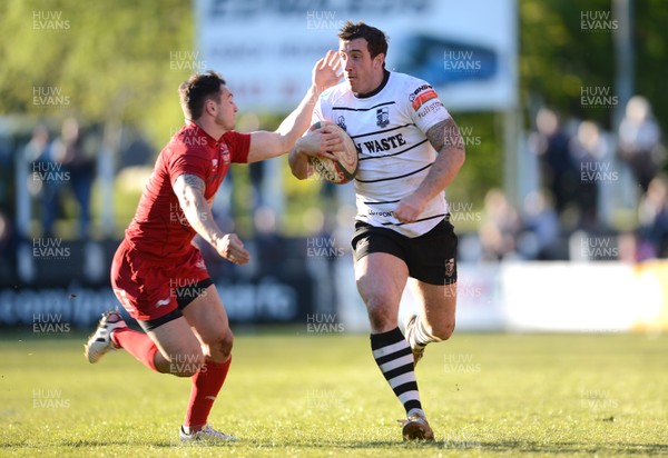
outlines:
M129 329L118 311L102 316L86 344L97 362L125 349L148 368L191 377L191 392L179 436L188 440L236 440L213 429L208 415L232 361L233 333L199 250L199 235L223 258L244 265L249 253L235 233L224 233L210 203L232 162L249 163L286 153L298 140L303 150L331 157L335 133L301 138L320 91L338 82L338 54L316 62L312 86L299 106L274 132L234 131L237 107L216 72L193 74L179 87L186 125L163 149L137 212L111 265L116 297L145 332Z

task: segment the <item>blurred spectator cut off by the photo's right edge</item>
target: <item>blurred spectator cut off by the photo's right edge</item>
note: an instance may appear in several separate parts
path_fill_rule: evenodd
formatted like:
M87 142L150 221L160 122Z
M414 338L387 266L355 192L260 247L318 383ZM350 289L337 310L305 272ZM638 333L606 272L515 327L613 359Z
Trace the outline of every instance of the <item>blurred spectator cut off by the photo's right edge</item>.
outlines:
M668 258L668 185L662 177L649 182L638 208L638 260Z

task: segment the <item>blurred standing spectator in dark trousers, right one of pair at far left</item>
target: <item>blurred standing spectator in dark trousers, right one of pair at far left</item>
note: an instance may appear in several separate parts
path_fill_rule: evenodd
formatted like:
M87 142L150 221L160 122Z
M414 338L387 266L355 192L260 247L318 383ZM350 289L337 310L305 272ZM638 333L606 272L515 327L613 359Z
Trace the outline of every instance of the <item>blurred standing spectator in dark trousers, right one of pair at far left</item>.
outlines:
M97 153L95 138L85 138L75 118L62 122L60 137L53 142L53 159L69 172L69 182L79 205L79 237L90 236L90 191Z

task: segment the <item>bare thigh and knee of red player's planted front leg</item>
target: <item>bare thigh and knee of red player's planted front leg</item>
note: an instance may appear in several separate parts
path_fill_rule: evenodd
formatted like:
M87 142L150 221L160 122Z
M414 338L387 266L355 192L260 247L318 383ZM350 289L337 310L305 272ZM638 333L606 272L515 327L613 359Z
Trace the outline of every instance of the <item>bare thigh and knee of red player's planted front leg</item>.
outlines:
M209 285L188 303L183 313L207 356L225 359L229 355L234 336L215 285Z

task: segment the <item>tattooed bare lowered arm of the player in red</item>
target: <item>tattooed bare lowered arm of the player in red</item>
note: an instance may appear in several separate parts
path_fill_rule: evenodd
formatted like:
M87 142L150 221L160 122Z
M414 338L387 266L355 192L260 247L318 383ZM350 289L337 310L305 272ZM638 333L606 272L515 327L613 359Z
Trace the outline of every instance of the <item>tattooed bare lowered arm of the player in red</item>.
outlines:
M214 221L209 205L204 198L206 186L202 178L184 173L176 179L173 189L190 227L214 247L218 255L238 265L250 260L250 255L237 235L224 233Z

